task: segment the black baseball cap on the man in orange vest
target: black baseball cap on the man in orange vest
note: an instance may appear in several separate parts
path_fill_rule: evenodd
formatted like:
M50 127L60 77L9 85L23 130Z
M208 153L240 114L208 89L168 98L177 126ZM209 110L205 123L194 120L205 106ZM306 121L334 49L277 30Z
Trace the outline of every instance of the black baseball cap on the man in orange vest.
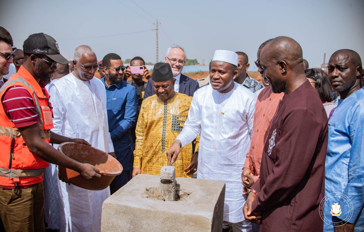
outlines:
M57 63L68 65L68 61L59 54L57 41L47 34L36 33L30 35L23 44L24 53L28 54L43 54L51 58Z

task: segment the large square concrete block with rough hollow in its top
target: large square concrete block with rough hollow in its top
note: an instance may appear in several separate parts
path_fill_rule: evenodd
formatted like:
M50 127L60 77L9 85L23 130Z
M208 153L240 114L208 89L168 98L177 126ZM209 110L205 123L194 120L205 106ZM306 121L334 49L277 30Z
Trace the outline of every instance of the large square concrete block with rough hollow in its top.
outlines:
M221 232L225 183L192 178L176 181L173 202L161 196L160 176L132 178L104 201L101 231Z

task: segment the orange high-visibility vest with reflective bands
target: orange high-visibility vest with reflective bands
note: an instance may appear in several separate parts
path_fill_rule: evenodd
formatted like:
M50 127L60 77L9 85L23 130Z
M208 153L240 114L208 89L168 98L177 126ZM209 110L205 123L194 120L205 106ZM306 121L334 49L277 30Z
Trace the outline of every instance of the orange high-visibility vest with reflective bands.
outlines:
M53 128L52 110L49 95L43 91L33 76L21 66L0 89L0 100L12 86L27 89L33 98L38 114L38 125L41 138L49 143L50 129ZM36 136L36 135L35 135ZM4 107L0 106L0 185L23 186L43 181L43 171L49 163L29 152L23 137L8 118Z

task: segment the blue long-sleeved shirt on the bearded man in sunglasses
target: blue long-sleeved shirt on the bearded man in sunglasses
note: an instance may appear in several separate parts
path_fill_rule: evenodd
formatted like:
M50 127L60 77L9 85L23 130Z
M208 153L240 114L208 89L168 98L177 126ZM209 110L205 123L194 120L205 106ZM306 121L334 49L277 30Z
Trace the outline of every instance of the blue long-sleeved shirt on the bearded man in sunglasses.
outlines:
M123 170L131 170L134 148L130 129L137 122L137 91L124 80L110 87L107 87L104 77L100 80L106 89L107 119L116 157Z

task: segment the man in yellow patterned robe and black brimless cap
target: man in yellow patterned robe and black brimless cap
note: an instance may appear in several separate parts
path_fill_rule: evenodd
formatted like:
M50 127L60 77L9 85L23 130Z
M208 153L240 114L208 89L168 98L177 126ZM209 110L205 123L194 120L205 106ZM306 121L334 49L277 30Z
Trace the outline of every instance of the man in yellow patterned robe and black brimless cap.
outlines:
M152 80L155 95L143 101L135 129L133 177L140 173L161 173L161 167L168 162L166 152L181 132L192 100L190 96L173 91L175 79L167 63L155 64ZM196 143L198 151L198 139ZM191 144L184 146L181 156L173 163L176 177L193 177L197 156L198 152L192 154Z

